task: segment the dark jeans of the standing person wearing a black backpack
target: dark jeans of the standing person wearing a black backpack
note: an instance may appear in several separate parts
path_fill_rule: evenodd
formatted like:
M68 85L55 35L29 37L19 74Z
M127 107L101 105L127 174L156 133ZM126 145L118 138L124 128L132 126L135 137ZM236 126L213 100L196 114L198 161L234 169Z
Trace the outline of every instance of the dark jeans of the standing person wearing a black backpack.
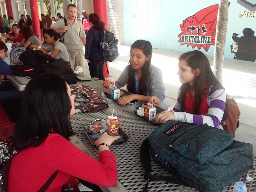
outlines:
M103 65L102 57L89 57L90 62L88 63L91 77L98 77L105 81L103 76Z

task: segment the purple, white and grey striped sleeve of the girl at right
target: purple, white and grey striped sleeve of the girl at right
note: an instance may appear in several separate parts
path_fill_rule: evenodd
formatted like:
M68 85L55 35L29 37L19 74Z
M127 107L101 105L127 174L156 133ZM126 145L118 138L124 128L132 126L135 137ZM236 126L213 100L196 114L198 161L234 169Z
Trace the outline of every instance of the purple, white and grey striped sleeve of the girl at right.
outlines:
M173 112L174 120L194 124L207 124L218 128L224 114L225 102L226 92L224 88L222 86L218 87L218 85L215 85L209 93L208 103L210 103L210 106L207 115L204 116L189 114L186 112Z

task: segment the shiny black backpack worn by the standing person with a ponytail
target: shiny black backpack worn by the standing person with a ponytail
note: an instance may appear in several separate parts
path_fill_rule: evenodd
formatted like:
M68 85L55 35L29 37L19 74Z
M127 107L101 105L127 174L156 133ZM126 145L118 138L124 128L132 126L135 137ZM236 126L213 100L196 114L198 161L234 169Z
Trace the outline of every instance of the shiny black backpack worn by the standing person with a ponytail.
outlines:
M118 39L115 38L114 33L103 29L103 34L100 40L100 53L104 62L111 62L119 56L117 44Z

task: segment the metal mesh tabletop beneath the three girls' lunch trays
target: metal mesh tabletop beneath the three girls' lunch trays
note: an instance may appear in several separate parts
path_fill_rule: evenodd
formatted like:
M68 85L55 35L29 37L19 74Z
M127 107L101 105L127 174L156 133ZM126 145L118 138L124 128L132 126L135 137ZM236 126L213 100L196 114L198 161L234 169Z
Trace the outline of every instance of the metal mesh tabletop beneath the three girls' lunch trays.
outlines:
M76 85L87 85L92 87L97 93L106 91L102 86L101 80L88 81L83 83L77 83ZM126 143L120 145L111 145L111 151L116 155L118 181L128 191L142 191L146 181L144 179L144 170L140 164L140 145L142 141L153 132L157 126L150 124L147 121L137 117L133 111L140 104L126 105L124 107L117 105L115 101L109 103L109 108L97 113L79 113L71 116L71 124L73 130L76 132L77 137L89 148L92 153L98 157L98 149L92 145L90 140L86 137L82 126L89 124L96 119L106 119L108 115L112 115L114 109L114 115L118 117L120 128L130 137ZM152 172L151 174L165 174L171 175L163 167L158 165L151 158ZM254 157L253 169L248 171L249 176L254 178L251 182L246 182L243 175L240 181L243 181L247 186L247 191L256 191L256 157ZM232 192L234 184L223 188L222 192ZM149 191L175 191L175 192L196 192L196 189L184 187L177 184L167 182L149 182Z

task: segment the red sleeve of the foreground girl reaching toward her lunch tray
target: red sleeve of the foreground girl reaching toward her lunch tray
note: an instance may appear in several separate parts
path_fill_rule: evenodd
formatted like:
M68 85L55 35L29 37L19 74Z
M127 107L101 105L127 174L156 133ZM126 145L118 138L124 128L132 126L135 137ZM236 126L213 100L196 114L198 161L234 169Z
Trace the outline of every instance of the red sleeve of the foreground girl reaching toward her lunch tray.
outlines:
M116 156L111 151L101 151L97 161L59 134L53 134L46 139L44 158L53 170L93 184L112 187L117 183Z

